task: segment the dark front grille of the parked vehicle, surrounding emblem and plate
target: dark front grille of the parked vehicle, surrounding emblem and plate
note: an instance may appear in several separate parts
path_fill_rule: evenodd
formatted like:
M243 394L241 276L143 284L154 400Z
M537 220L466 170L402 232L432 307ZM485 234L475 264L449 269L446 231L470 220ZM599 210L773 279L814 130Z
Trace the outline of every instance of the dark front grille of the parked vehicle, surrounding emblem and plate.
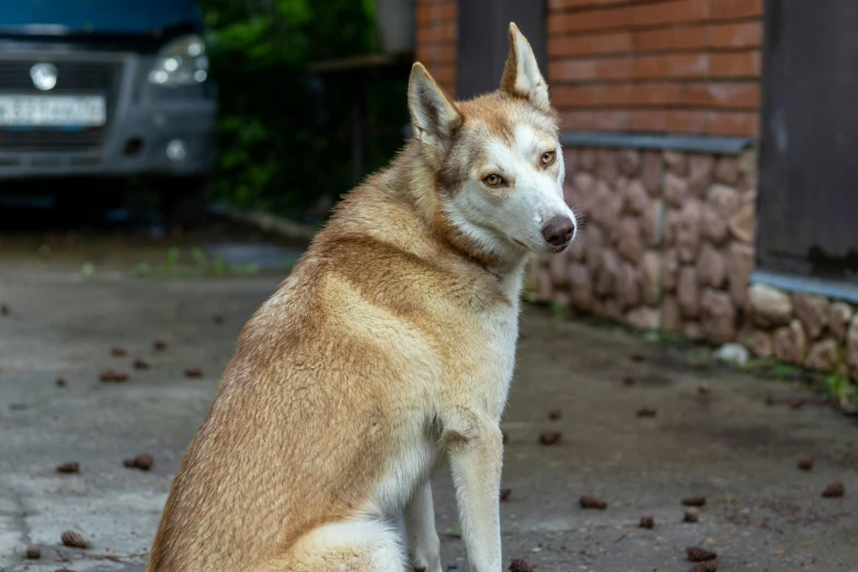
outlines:
M30 77L30 69L38 62L50 62L57 67L57 84L49 92L38 90L33 85ZM2 94L103 94L107 103L107 122L101 127L79 130L0 127L0 151L98 151L113 119L119 94L121 70L122 64L118 61L80 61L50 57L0 59L0 93Z

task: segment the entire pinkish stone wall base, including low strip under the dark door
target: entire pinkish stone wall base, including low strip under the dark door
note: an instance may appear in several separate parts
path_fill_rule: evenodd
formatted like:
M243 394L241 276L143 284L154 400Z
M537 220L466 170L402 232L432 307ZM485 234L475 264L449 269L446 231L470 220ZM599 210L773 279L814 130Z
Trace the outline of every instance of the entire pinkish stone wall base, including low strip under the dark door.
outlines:
M534 261L533 298L858 380L858 307L750 283L753 150L564 157L567 203L584 224L564 254Z

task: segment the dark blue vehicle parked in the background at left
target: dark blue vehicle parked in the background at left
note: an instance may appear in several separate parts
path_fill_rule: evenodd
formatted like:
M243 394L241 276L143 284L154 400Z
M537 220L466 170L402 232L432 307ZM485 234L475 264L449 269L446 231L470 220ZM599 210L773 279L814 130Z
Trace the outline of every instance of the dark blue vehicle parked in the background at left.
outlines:
M206 213L216 87L197 0L14 0L0 10L0 193L148 181L171 225ZM106 190L106 191L105 191ZM115 191L112 191L115 190ZM81 197L83 195L80 195Z

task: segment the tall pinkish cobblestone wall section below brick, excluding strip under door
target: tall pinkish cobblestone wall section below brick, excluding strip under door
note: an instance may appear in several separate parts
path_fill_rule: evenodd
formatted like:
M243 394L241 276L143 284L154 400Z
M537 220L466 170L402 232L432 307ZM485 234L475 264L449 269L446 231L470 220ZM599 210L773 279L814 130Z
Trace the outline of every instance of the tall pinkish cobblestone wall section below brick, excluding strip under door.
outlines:
M538 262L537 299L694 340L736 339L754 261L755 159L565 150L568 203L586 220Z

